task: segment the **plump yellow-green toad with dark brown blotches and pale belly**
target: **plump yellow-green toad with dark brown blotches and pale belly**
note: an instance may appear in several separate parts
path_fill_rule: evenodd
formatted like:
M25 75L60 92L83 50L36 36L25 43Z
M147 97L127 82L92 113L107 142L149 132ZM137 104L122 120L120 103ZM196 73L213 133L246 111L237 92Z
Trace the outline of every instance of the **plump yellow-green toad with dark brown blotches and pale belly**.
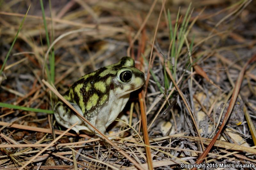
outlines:
M123 82L120 75L131 72L129 82ZM127 77L126 77L127 78ZM68 100L81 115L102 133L116 119L127 103L130 93L139 89L145 82L144 74L135 68L134 60L123 57L118 63L102 67L79 78L64 98ZM79 116L71 112L61 101L54 107L54 115L59 124L68 128L78 121L73 130L91 130Z

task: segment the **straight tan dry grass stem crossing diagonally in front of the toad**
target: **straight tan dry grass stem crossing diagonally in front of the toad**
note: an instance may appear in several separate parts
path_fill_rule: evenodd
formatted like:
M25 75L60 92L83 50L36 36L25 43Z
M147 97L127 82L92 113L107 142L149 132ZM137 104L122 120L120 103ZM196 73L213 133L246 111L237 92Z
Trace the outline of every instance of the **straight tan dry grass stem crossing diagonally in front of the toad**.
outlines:
M45 80L42 80L43 83L52 90L65 104L68 105L78 116L80 116L86 123L88 123L92 129L94 129L101 137L103 137L110 145L112 145L118 152L120 152L122 155L124 155L125 158L130 160L138 169L143 170L143 168L134 160L132 159L129 155L127 155L122 149L120 149L116 144L114 144L110 139L108 139L104 134L102 134L97 128L95 128L88 120L84 118L84 116L80 115L79 112L66 100L64 97L60 95L60 93L55 90L48 82Z

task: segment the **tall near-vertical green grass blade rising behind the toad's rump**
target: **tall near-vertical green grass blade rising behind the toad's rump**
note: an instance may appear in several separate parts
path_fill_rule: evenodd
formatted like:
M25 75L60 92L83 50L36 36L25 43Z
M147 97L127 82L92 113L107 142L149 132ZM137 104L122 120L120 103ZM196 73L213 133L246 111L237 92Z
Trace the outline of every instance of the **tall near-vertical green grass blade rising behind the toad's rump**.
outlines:
M47 42L47 47L49 48L50 47L50 40L49 40L49 34L48 34L48 29L47 29L47 24L46 24L46 18L45 18L45 13L44 13L44 4L43 4L43 1L40 0L40 5L41 5L41 10L42 10L42 15L43 15L43 21L44 21L44 29L45 29L45 35L46 35L46 42ZM54 50L52 48L51 50L51 54L50 54L50 57L49 57L49 61L50 61L50 72L51 72L51 75L50 77L50 82L52 82L54 84L54 75L55 75L55 69L54 69L54 65L55 65L55 57L54 57ZM45 65L45 67L47 67ZM48 75L49 76L49 75Z

